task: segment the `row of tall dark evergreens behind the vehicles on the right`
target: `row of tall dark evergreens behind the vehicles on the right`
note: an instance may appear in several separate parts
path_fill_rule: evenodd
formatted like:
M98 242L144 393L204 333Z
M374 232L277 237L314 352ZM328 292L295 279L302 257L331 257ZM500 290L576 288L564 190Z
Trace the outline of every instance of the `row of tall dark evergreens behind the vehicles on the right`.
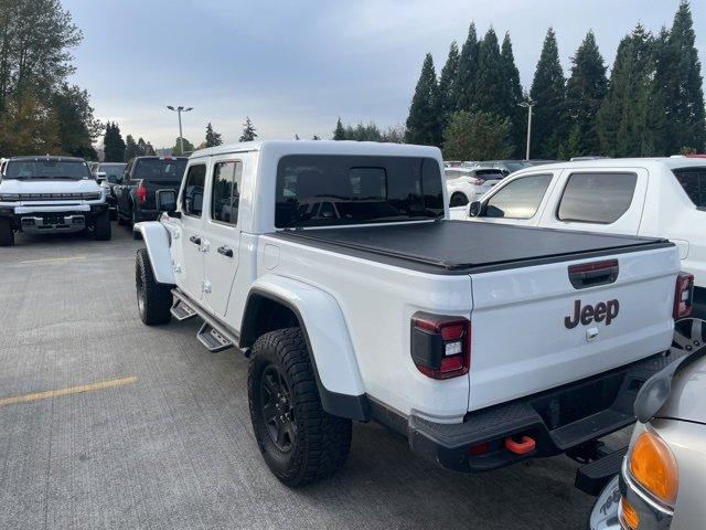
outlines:
M522 158L533 105L532 158L668 156L703 151L706 119L691 8L682 1L671 29L653 35L638 24L618 47L610 78L589 31L571 57L568 78L548 29L528 93L512 41L471 23L452 42L439 76L425 57L409 107L405 140L434 145L448 159ZM336 126L338 130L338 126ZM334 135L335 137L335 135Z

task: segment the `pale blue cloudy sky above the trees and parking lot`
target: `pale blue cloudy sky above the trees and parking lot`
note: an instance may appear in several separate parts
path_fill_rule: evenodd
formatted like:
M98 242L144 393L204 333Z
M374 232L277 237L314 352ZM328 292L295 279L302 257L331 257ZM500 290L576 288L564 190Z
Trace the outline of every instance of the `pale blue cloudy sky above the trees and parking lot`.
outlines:
M125 137L173 146L176 114L199 145L213 124L236 142L249 116L260 139L332 136L344 124L404 124L426 53L441 71L449 44L475 22L510 32L528 88L552 25L565 74L593 30L608 66L638 22L670 26L678 0L62 0L82 29L73 82L96 117ZM706 57L706 0L692 0Z

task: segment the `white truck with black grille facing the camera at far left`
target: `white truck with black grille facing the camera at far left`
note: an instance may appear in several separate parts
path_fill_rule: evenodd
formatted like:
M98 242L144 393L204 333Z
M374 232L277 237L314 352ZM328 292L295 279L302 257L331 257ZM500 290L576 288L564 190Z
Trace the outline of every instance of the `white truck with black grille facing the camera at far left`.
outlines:
M104 190L83 158L12 157L0 167L0 246L15 232L92 232L110 240Z

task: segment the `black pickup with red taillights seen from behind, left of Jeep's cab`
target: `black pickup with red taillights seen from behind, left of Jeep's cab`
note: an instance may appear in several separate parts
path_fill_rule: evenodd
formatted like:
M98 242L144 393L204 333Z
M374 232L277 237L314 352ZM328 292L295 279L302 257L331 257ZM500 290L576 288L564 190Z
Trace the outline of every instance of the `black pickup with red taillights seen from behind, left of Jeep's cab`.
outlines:
M185 157L136 157L122 173L122 181L113 188L118 224L153 221L158 211L157 190L176 190L186 167Z

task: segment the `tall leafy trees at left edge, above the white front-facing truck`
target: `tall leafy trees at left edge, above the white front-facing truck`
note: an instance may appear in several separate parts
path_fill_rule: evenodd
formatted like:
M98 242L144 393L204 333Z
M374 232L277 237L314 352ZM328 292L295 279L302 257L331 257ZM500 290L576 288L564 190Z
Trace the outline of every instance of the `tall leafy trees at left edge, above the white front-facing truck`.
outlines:
M96 157L103 126L67 81L82 39L58 0L0 0L0 155Z

